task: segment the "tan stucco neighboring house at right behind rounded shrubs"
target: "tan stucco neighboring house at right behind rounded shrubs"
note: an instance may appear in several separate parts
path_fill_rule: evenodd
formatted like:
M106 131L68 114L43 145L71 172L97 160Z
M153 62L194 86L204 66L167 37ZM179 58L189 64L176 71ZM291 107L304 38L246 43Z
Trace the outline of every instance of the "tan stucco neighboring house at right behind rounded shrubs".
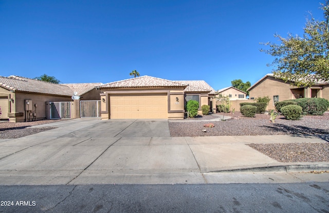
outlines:
M268 109L275 109L275 102L296 98L326 98L329 100L329 82L318 82L311 87L296 87L292 82L273 77L267 74L254 83L249 89L249 98L269 96L271 98Z

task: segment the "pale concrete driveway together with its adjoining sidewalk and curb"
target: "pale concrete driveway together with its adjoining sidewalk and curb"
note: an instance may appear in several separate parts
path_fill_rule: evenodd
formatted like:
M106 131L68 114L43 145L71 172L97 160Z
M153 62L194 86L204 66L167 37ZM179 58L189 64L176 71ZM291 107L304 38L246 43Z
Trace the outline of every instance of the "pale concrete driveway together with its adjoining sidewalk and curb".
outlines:
M170 137L168 120L74 119L57 129L0 140L0 185L273 183L328 181L329 162L280 163L248 143L313 137ZM34 126L40 127L40 126Z

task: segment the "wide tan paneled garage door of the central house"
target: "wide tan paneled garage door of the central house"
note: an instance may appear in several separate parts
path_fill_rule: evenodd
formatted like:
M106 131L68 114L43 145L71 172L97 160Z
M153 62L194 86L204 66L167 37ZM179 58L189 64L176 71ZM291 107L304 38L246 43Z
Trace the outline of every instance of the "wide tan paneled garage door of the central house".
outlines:
M167 94L111 95L110 118L168 118Z

